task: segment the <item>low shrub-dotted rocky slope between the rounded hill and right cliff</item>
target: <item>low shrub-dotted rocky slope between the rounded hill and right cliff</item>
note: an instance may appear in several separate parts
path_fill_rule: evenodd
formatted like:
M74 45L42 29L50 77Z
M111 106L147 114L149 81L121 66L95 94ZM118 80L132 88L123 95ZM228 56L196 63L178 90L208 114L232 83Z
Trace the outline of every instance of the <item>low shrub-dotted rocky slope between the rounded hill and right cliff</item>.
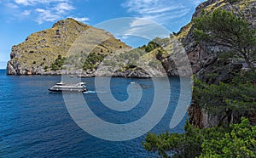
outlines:
M102 60L101 68L105 67L104 71L115 71L113 76L163 76L161 59L166 59L172 53L164 50L170 41L169 37L156 37L142 47L110 54Z

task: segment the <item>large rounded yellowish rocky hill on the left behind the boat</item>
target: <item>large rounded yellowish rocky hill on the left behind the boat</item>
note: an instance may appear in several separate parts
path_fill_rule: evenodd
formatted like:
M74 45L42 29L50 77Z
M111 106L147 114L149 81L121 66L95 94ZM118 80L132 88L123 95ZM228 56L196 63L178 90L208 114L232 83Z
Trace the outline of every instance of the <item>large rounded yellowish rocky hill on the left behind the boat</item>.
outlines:
M116 39L107 31L96 29L76 20L68 18L56 22L52 28L33 33L26 37L26 41L13 46L10 60L7 64L8 75L58 75L60 72L72 73L72 71L51 70L51 65L59 55L67 57L69 50L77 42L79 37L90 31L90 43L82 43L81 48L91 48L93 54L108 55L116 51L130 50L124 42ZM105 41L93 45L93 42L105 37ZM88 55L88 52L84 52ZM79 68L77 68L79 70Z

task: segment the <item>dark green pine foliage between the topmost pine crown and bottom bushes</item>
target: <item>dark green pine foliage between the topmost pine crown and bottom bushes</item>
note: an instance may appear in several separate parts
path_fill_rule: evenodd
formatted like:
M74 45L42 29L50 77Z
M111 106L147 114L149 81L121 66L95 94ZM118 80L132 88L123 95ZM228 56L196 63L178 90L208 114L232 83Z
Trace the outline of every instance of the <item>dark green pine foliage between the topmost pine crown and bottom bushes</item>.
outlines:
M223 118L219 121L219 124L222 124L224 118L230 118L234 111L243 113L256 110L255 80L254 71L242 72L241 75L235 76L232 82L219 82L218 85L195 80L193 99L211 114L223 114Z

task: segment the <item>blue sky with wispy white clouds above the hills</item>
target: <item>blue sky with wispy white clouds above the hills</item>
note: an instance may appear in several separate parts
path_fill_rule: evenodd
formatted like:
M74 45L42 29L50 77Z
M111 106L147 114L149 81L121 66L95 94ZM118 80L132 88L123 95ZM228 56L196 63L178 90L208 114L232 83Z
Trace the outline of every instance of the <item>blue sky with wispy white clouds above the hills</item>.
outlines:
M119 36L106 21L126 20L126 32L147 21L177 32L189 23L195 7L205 0L0 0L0 69L5 69L13 45L24 42L33 32L49 29L58 20L73 18L113 33L132 47L148 40L135 41ZM127 19L128 18L128 19ZM130 19L129 19L130 18ZM116 19L118 19L116 21ZM120 20L121 19L121 20ZM138 19L138 20L137 20ZM128 22L127 22L128 21Z

